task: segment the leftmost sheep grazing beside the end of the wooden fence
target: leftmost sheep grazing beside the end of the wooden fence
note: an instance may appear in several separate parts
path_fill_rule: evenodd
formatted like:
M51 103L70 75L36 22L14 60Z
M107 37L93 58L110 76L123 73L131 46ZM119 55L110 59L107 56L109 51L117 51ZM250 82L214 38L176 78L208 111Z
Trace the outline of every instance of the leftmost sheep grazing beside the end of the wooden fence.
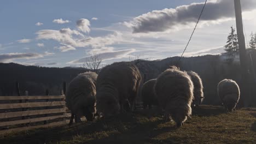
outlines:
M96 113L96 80L97 74L86 72L75 77L67 88L66 105L71 110L69 125L80 122L80 117L85 116L88 121L93 121Z

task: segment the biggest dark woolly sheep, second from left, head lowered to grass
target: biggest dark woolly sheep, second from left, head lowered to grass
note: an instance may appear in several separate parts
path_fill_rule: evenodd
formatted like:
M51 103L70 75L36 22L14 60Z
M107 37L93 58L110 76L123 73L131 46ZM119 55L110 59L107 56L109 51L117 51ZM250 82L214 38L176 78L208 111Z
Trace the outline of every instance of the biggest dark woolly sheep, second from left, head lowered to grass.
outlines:
M141 83L141 74L131 62L102 68L97 78L97 111L105 117L131 110Z

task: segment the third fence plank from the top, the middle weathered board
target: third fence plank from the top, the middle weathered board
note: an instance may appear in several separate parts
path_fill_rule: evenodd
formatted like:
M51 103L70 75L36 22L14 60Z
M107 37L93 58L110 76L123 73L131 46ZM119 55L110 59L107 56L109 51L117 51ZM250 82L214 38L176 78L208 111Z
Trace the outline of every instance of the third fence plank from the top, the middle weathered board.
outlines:
M4 113L0 113L0 118L11 118L11 117L21 117L21 116L43 115L43 114L61 113L61 112L66 112L66 109L65 108L61 108L61 109L48 109L48 110L4 112Z

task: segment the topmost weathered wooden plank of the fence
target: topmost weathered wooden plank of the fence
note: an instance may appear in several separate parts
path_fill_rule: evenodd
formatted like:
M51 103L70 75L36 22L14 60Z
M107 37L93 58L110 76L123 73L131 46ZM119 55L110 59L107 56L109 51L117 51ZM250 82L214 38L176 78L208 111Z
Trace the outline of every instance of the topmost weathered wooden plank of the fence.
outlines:
M64 95L0 96L0 100L22 100L22 99L65 99L65 96Z

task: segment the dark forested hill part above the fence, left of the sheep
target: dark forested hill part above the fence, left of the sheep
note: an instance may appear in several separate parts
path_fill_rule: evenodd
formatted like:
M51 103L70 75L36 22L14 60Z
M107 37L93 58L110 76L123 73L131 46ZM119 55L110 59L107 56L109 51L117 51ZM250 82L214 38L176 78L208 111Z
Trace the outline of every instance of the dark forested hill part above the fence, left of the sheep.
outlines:
M16 81L19 82L21 94L28 91L29 95L43 95L49 89L51 95L59 95L64 81L68 83L84 71L86 70L0 63L0 95L16 95Z

